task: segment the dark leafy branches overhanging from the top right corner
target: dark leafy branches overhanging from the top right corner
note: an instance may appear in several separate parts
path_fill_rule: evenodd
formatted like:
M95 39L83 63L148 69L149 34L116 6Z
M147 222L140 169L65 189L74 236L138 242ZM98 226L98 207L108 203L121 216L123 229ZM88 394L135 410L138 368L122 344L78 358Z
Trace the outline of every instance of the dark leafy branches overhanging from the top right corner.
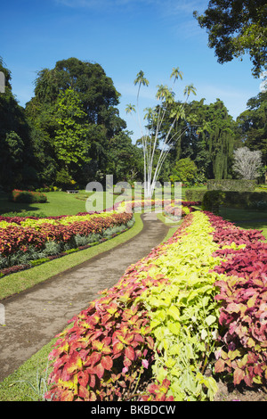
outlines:
M248 53L253 75L267 67L267 4L264 0L210 0L204 14L194 12L208 33L208 46L218 62L231 62Z

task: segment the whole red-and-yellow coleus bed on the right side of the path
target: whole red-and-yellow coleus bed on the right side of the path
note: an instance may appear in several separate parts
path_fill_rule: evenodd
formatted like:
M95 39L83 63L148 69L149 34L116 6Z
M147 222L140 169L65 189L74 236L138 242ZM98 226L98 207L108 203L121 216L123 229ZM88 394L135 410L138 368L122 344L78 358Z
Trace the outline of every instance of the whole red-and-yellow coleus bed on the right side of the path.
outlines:
M205 373L214 354L216 372L235 370L235 384L246 376L248 385L266 382L265 329L246 334L266 301L263 239L212 214L190 213L168 242L129 267L59 335L46 398L212 400L216 382ZM254 260L249 276L241 265L232 276L231 258L261 245L262 271ZM239 310L231 300L237 284L246 302ZM258 363L251 372L252 361Z

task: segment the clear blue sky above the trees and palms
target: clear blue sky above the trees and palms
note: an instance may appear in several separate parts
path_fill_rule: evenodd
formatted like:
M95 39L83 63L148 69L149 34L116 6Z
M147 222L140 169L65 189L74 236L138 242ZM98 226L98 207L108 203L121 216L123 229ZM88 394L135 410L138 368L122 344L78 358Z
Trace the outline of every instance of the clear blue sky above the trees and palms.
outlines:
M248 57L219 64L207 46L205 29L192 13L204 12L208 0L9 0L0 5L0 56L12 71L12 91L21 106L33 96L36 71L52 69L57 61L77 57L98 62L121 94L118 109L140 136L134 119L125 113L136 103L134 78L143 70L150 86L142 88L140 109L157 103L160 84L172 85L174 67L183 73L176 99L193 83L206 103L223 100L236 119L247 100L260 91Z

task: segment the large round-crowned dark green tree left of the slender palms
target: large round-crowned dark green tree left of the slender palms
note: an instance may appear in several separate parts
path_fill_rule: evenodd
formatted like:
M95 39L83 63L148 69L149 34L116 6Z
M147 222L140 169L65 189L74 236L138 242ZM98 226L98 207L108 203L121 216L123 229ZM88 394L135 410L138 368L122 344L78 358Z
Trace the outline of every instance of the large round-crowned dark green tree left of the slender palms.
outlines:
M72 118L69 113L65 114L65 117L59 114L59 97L69 89L77 94L78 109L84 112L83 122L77 115ZM26 112L32 127L31 141L36 158L44 161L40 164L43 182L45 177L49 177L49 183L53 183L56 172L61 170L63 161L61 147L56 146L60 144L60 138L65 138L65 141L69 138L69 150L71 150L78 137L85 138L85 126L86 141L82 144L90 144L91 160L88 162L84 159L84 167L82 168L79 164L77 168L77 164L73 163L76 158L79 160L78 152L74 152L72 164L68 163L69 175L77 177L78 182L81 178L83 182L88 182L92 177L94 178L95 173L104 173L109 159L109 142L113 136L126 127L125 121L119 117L117 110L119 96L112 79L106 76L101 65L97 63L83 62L72 57L56 62L52 70L43 69L37 73L35 95L27 103ZM63 103L61 103L62 106ZM73 111L73 103L69 103L69 106ZM55 117L56 114L57 117ZM62 124L64 118L65 122ZM77 124L79 127L78 133L75 130L76 139L68 136L71 127L67 129L67 119L71 118L74 125ZM61 128L65 127L64 132L59 127L60 119ZM64 150L67 148L65 144ZM83 148L82 154L85 155Z

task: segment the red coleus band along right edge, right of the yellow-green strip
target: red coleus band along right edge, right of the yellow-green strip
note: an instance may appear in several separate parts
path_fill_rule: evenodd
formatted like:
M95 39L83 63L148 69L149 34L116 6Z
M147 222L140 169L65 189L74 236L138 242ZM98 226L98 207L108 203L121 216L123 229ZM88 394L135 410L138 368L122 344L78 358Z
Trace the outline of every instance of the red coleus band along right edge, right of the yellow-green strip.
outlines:
M215 352L216 373L233 374L233 382L248 386L267 382L267 243L256 230L243 230L208 213L214 241L235 242L244 249L221 249L225 260L214 271L227 280L214 283L221 301L222 347Z

